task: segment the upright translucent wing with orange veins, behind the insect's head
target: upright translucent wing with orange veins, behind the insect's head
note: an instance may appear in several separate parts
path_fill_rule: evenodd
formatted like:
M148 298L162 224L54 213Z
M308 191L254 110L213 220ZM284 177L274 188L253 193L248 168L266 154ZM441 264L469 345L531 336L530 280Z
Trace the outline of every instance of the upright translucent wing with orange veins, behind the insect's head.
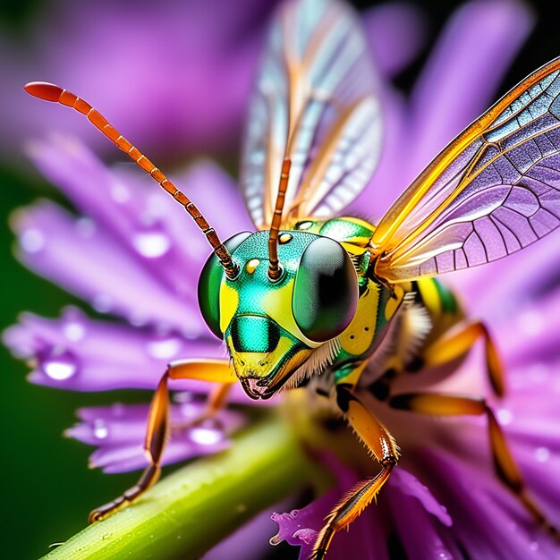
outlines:
M242 189L270 225L284 157L284 221L332 216L363 189L380 147L377 79L361 23L335 0L282 5L269 36L242 153Z

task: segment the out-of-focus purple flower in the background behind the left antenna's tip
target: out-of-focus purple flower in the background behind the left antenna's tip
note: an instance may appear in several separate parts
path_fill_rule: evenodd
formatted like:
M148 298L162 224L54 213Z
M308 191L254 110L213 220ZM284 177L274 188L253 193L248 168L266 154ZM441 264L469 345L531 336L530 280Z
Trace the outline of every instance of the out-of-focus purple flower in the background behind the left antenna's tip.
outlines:
M21 96L31 80L88 94L150 154L231 148L237 140L264 24L276 0L143 4L130 0L42 4L15 36L0 30L4 157L44 130L63 130L110 151L75 115L45 112ZM216 87L216 84L220 84Z

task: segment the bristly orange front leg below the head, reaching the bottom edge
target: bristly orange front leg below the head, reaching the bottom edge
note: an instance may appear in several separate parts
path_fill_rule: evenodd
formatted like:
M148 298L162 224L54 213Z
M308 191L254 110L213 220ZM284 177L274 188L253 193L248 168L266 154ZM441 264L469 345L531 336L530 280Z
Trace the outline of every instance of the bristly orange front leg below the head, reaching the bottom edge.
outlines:
M336 386L338 406L344 412L352 429L367 445L369 453L378 460L381 471L373 479L362 480L335 505L327 516L327 523L318 533L310 560L321 560L327 554L327 548L335 532L348 527L371 503L398 461L399 449L395 439L350 389L351 386L346 384Z

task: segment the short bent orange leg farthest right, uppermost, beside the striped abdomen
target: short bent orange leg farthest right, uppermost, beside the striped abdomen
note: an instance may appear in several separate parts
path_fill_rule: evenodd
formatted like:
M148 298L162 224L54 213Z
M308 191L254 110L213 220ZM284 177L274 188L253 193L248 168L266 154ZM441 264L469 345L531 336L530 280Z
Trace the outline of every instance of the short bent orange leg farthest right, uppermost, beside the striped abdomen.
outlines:
M434 367L454 361L469 352L482 337L486 353L486 369L492 389L498 396L505 394L504 367L488 328L480 321L462 322L437 338L422 352L422 366Z

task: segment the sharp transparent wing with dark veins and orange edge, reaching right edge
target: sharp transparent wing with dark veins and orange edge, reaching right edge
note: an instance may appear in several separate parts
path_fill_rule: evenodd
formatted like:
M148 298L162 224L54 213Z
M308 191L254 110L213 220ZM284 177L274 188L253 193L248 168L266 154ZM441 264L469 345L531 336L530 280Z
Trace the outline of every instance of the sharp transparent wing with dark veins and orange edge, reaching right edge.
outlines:
M460 134L371 240L389 282L501 259L560 225L560 58Z

